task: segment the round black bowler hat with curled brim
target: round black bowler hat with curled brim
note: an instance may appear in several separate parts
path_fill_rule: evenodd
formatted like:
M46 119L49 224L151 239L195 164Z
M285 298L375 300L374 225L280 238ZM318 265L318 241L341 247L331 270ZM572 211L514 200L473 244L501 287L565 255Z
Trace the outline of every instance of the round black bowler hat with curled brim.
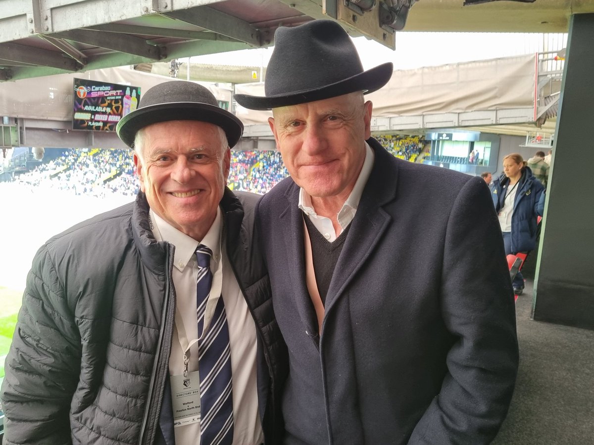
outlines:
M138 108L118 122L118 136L128 147L141 128L168 120L201 120L220 126L229 147L237 144L244 124L235 115L219 107L208 88L194 82L170 81L155 85L140 98Z

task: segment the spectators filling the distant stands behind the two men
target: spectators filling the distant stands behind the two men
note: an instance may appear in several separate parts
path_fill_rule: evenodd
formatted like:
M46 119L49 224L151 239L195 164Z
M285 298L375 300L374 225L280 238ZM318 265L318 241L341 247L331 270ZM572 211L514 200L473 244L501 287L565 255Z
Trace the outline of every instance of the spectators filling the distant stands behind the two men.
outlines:
M411 162L422 161L425 141L419 136L381 135L378 141L391 154ZM57 150L57 149L49 149ZM49 152L46 150L46 154ZM420 156L421 155L421 156ZM267 193L289 176L278 151L232 151L228 185L232 190ZM127 150L67 149L46 156L34 169L14 178L15 185L67 190L75 195L134 196L138 181Z

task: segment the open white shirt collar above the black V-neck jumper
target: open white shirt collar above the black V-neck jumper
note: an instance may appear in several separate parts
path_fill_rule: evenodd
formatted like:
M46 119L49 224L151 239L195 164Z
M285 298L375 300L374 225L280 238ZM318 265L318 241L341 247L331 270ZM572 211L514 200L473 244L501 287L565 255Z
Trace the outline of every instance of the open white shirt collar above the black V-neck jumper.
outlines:
M326 238L331 243L336 240L340 233L342 233L345 228L347 228L350 222L355 218L355 213L357 212L357 208L359 206L359 201L361 201L361 195L363 194L363 189L365 188L365 184L369 179L369 174L371 174L371 169L373 168L373 161L375 155L369 144L365 142L365 160L363 161L363 167L361 167L361 172L359 173L359 177L355 182L355 186L353 190L350 192L349 197L346 199L345 204L343 204L342 209L338 212L338 223L340 225L340 232L336 233L334 231L334 226L332 225L332 220L330 218L322 217L318 215L314 207L311 204L311 196L307 193L304 189L299 190L299 208L308 215L309 220L314 224L315 228L323 234L324 238Z

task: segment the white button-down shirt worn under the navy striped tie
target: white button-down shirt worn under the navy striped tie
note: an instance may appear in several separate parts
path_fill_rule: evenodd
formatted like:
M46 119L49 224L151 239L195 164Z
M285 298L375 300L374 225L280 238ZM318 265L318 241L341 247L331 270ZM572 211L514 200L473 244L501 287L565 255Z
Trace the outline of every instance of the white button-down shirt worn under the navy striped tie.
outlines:
M173 259L173 285L176 294L177 320L183 326L175 326L169 357L169 374L182 374L184 371L184 350L179 342L180 335L188 342L198 336L196 315L196 280L198 265L195 250L198 241L172 227L168 222L150 211L154 221L153 234L158 241L168 241L175 246ZM233 382L233 444L254 445L264 441L264 434L258 414L258 393L256 383L256 329L244 295L231 269L225 253L224 240L221 240L222 215L220 208L210 230L201 241L213 252L210 269L213 283L208 297L204 325L210 326L214 307L221 295L229 325L231 348L231 371ZM188 370L198 370L198 345L189 349ZM200 444L200 423L182 425L175 428L176 445Z

